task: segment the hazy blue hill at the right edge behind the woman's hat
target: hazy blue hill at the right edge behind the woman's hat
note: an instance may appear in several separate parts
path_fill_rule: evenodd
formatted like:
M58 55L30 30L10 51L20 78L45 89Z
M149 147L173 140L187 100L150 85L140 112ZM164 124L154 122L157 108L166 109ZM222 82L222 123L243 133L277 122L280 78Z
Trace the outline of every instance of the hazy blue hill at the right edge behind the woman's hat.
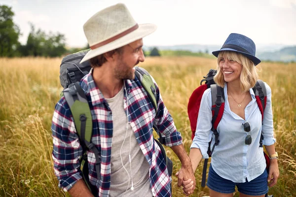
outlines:
M285 47L275 52L258 53L257 56L264 61L296 62L296 46Z

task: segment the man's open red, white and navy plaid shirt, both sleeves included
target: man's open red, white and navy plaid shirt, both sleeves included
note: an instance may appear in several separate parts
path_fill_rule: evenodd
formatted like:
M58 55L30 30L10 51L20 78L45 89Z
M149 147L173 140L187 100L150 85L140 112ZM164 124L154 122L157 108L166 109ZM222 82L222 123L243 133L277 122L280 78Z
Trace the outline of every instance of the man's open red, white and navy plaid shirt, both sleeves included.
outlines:
M94 153L87 151L89 179L90 183L98 189L99 197L108 197L111 183L112 115L108 102L95 85L91 73L92 71L80 81L80 85L88 99L93 119L91 141L101 153L102 161L98 180ZM176 130L155 81L158 101L157 113L155 113L147 92L137 78L125 80L124 83L126 87L126 91L124 91L124 109L125 111L129 110L128 120L131 122L139 146L150 165L149 179L152 194L156 197L170 197L172 178L168 174L161 150L154 141L152 126L154 125L158 132L161 133L163 143L166 146L182 144L181 133ZM128 106L127 97L129 99ZM79 168L82 147L76 133L72 113L64 97L55 106L51 130L54 171L59 180L59 187L63 188L64 191L68 191L76 181L82 178Z

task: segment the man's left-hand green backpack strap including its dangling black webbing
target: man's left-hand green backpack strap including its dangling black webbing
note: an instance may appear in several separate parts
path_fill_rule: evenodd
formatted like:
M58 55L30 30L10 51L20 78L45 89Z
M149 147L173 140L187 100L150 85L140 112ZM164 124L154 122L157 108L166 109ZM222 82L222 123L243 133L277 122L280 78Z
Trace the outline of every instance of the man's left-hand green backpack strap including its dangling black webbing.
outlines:
M98 180L100 180L101 171L101 154L93 143L91 143L92 136L92 117L87 98L82 90L79 82L71 84L63 91L64 97L70 107L74 118L75 128L83 149L82 157L80 158L80 169L82 177L88 189L96 196L97 189L91 185L88 178L88 163L86 149L91 150L96 158L96 171Z

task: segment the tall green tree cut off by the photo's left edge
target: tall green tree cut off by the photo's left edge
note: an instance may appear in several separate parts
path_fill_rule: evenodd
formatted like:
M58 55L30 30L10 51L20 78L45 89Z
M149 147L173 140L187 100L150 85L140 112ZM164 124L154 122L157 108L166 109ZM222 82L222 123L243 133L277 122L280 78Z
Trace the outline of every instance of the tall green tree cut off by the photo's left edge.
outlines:
M17 55L20 30L14 24L11 7L0 5L0 57L13 57Z

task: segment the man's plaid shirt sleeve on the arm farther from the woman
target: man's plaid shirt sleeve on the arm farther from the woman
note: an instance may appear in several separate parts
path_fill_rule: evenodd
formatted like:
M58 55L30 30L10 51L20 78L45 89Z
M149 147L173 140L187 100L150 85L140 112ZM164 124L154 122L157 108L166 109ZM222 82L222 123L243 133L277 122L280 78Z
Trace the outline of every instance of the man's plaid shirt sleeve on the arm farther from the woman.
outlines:
M82 178L79 158L82 155L71 111L62 98L55 107L52 118L52 138L54 173L59 180L59 187L65 192Z

